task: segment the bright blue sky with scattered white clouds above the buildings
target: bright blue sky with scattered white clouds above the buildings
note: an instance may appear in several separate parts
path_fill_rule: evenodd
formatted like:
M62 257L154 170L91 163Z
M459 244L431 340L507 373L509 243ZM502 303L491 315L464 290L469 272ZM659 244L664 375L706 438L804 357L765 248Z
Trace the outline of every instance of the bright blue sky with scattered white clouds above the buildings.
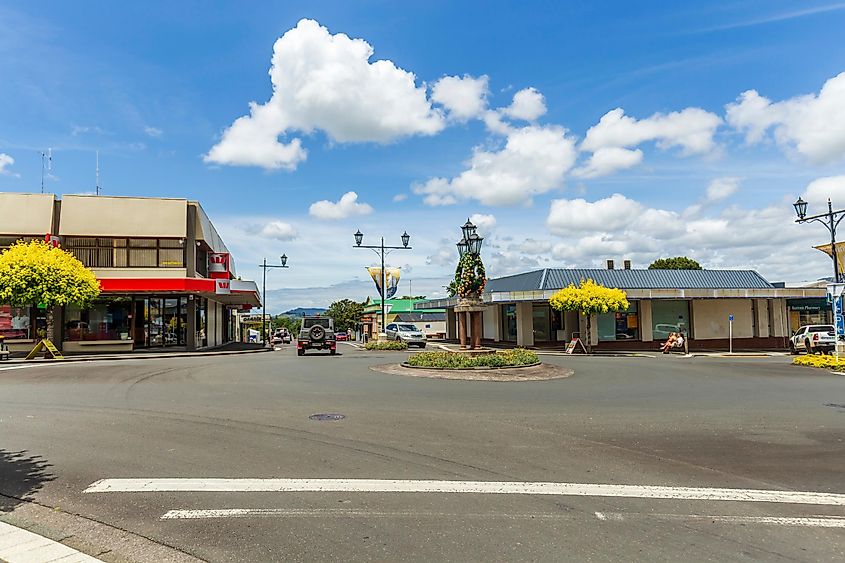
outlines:
M0 191L199 200L268 310L686 255L831 275L845 2L0 1ZM0 215L2 210L0 210ZM845 236L845 232L843 235Z

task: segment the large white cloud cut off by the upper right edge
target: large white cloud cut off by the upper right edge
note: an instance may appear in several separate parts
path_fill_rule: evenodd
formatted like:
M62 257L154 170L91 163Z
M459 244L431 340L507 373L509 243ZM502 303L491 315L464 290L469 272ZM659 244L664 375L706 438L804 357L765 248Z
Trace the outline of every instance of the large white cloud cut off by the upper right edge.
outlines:
M725 109L728 123L744 132L749 144L764 140L773 129L778 145L794 149L813 163L845 156L845 72L825 82L818 95L772 102L748 90Z

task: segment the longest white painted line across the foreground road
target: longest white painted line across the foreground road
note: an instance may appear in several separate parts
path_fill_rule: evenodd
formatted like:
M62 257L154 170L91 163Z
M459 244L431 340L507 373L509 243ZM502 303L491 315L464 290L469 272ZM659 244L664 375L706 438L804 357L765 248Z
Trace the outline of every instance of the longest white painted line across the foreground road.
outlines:
M85 493L344 492L473 493L773 502L845 506L845 494L765 489L660 487L599 483L433 481L400 479L101 479Z

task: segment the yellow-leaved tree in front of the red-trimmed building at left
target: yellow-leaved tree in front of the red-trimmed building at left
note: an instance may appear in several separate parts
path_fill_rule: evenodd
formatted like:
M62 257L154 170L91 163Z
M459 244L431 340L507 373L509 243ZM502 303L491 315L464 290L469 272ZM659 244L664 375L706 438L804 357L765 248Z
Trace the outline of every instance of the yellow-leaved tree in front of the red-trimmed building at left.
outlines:
M48 339L55 336L53 307L86 307L99 294L94 272L61 248L34 240L0 252L0 303L46 306Z

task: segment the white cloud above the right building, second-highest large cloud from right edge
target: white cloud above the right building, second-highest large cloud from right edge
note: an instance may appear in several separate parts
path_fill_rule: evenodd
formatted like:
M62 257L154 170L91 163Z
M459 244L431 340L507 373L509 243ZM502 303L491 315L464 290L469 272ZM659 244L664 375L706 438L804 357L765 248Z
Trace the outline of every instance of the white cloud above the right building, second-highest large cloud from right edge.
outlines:
M719 116L700 108L655 113L646 119L627 116L622 108L616 108L590 127L581 149L596 152L607 147L633 148L655 141L661 149L680 147L685 155L707 153L715 147L713 136L721 122Z

